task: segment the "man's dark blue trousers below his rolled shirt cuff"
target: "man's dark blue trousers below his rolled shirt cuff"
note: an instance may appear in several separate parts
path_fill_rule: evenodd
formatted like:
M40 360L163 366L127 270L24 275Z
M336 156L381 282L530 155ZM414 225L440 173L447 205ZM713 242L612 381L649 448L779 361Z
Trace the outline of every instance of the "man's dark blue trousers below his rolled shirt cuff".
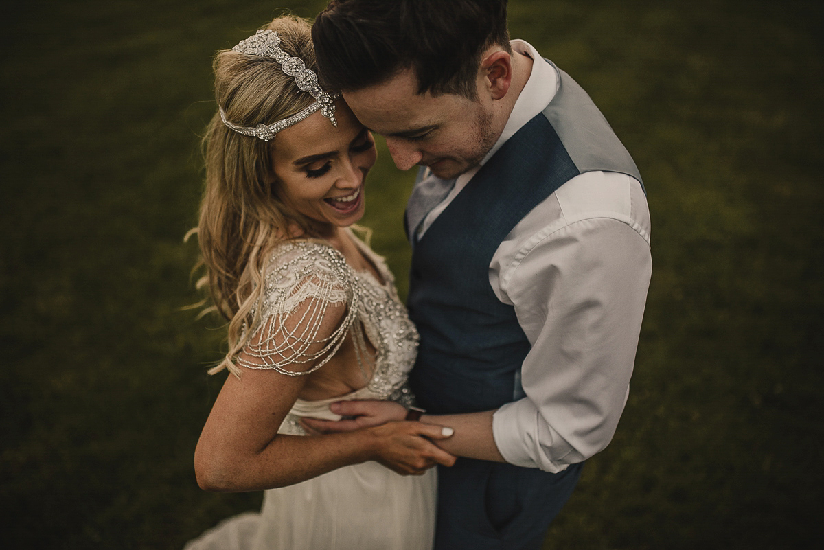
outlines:
M439 466L434 550L538 550L582 466L546 473L463 458Z

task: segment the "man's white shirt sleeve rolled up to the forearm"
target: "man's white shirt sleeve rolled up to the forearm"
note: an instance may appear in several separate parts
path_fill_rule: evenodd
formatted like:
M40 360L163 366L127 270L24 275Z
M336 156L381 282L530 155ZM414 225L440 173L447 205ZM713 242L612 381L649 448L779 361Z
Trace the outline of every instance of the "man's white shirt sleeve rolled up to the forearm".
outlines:
M559 472L616 431L652 259L631 219L593 214L543 232L500 280L532 347L521 371L527 397L499 408L493 433L509 463Z

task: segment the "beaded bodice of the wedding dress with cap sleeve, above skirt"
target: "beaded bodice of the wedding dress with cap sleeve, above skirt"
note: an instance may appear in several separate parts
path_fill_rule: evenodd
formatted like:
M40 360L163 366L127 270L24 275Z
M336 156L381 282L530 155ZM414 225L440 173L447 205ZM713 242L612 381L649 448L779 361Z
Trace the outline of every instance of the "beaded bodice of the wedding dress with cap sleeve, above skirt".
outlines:
M391 399L405 406L413 398L406 376L414 364L418 332L400 303L395 280L383 259L355 237L384 283L371 273L356 272L331 245L294 240L279 245L264 271L264 293L255 310L244 355L237 362L251 369L274 369L284 375L306 375L322 368L351 333L358 361L373 365L368 384L352 394L325 399L298 399L281 433L304 435L297 417L335 418L329 403L341 399ZM324 319L326 317L326 323ZM329 328L328 318L340 319ZM367 351L365 337L377 353ZM314 365L307 368L307 365ZM361 364L366 372L364 363Z

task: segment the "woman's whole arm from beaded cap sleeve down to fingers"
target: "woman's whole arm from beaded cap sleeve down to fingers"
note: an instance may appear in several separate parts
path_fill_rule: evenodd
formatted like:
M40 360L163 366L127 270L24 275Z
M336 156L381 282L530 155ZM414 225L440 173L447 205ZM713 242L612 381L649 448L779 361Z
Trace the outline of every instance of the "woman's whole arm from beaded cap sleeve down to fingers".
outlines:
M376 460L398 473L451 465L432 440L438 426L390 422L322 437L279 435L278 429L317 375L335 377L345 338L358 331L358 288L331 247L302 244L277 250L265 272L258 320L209 413L194 454L200 487L237 492L282 487L348 464ZM354 359L353 359L354 360ZM331 370L330 370L331 369ZM427 439L428 438L428 439Z

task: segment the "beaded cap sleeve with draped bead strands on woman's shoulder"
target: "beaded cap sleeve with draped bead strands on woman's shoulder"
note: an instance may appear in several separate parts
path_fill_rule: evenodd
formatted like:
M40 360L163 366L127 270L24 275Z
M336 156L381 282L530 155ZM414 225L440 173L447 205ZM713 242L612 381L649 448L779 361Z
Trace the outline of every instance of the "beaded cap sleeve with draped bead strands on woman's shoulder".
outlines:
M237 363L291 376L324 366L360 310L360 292L344 257L316 242L283 243L269 256L263 284L252 333Z

